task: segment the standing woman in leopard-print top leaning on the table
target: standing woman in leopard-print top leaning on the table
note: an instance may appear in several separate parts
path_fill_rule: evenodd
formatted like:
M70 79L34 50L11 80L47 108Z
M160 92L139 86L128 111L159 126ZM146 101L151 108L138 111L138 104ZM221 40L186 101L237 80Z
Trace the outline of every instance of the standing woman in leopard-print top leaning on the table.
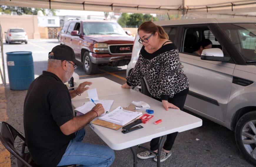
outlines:
M183 110L189 91L186 75L180 67L179 52L172 43L164 29L151 21L142 23L138 28L139 42L142 49L138 61L128 76L122 88L137 86L145 77L151 97L162 102L165 110L168 108ZM178 132L168 134L161 150L160 162L171 156L171 149ZM150 142L150 150L157 152L160 137ZM157 156L149 151L137 154L140 159L154 158Z

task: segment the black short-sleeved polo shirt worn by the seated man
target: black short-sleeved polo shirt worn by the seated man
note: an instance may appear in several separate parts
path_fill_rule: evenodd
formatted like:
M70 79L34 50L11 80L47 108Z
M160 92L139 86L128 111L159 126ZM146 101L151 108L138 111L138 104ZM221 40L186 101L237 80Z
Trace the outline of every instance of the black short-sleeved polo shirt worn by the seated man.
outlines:
M58 76L43 71L29 86L24 102L26 144L39 166L57 166L69 141L60 126L73 118L71 97Z

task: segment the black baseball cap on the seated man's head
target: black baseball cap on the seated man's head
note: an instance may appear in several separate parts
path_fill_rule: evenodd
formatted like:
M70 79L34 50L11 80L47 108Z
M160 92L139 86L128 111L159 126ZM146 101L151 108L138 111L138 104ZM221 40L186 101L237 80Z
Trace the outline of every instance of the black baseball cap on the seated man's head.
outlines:
M53 56L49 55L49 59L72 61L78 66L83 66L83 63L76 59L74 50L67 45L57 45L52 48L51 52L53 52Z

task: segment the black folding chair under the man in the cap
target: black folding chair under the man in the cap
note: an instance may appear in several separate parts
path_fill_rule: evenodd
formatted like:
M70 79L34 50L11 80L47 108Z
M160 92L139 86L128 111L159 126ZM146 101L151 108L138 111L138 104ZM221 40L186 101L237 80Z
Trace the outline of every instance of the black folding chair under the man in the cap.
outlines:
M24 143L22 144L21 154L14 148L16 137L20 137ZM14 127L6 122L0 122L0 141L10 153L16 157L17 167L39 167L31 158L29 152L25 153L25 138ZM76 165L66 165L61 167L76 167Z

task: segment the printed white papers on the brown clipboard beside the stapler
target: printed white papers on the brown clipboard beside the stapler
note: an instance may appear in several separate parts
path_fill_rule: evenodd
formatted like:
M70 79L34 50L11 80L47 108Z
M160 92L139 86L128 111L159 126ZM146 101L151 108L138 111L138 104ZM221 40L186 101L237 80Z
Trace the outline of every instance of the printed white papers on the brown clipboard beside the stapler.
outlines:
M140 115L142 115L141 112L124 110L122 107L119 106L109 114L99 117L99 120L104 120L123 126Z

